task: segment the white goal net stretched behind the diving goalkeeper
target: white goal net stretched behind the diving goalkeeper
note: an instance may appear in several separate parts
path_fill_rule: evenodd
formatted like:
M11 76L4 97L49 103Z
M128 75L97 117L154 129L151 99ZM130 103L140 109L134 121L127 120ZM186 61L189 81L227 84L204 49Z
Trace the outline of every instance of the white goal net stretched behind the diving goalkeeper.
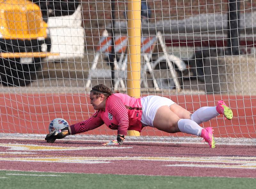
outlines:
M127 93L129 2L0 3L0 136L42 138L54 118L88 119L94 85ZM202 127L218 139L255 140L255 3L141 0L140 7L140 96L171 98L190 112L222 99L233 119L220 115ZM80 137L114 135L102 125ZM151 127L136 138L200 139Z

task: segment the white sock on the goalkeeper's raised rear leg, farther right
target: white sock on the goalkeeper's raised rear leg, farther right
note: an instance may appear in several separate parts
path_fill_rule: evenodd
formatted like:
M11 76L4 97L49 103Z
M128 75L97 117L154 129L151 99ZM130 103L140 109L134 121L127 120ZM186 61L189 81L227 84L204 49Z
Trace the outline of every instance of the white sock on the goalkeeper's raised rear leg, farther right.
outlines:
M196 122L197 124L201 124L202 122L207 122L210 119L220 115L217 110L216 106L204 106L199 109L197 109L192 115L191 120Z

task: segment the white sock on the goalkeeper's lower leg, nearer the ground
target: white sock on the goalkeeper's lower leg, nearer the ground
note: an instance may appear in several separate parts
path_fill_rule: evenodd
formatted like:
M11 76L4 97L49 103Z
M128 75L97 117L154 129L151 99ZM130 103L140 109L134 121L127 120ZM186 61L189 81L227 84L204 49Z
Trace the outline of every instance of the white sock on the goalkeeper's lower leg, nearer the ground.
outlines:
M196 135L198 137L201 136L201 131L203 130L200 125L190 119L180 119L178 121L178 127L181 132Z

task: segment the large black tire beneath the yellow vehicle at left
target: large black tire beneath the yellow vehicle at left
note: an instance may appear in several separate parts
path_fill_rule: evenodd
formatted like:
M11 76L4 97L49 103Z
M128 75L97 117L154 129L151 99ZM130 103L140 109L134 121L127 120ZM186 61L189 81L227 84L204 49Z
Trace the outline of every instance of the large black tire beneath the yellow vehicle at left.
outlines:
M32 63L22 64L20 58L0 58L0 81L5 86L26 86L36 80L41 70L41 59L34 58Z

